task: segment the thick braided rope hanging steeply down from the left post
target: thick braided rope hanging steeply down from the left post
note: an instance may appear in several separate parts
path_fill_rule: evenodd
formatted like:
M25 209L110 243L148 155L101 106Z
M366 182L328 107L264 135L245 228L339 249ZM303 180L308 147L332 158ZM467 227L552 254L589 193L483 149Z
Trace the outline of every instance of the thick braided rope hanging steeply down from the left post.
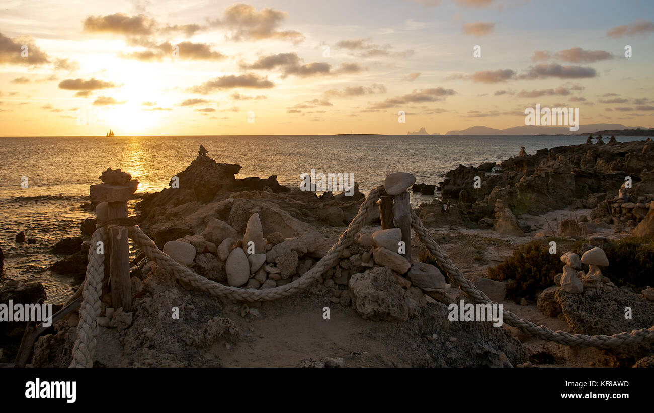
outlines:
M105 274L105 256L97 254L97 242L106 245L106 233L103 227L98 228L91 237L88 249L88 265L86 265L86 282L82 290L82 305L77 324L77 339L73 346L73 361L70 367L92 367L95 352L95 319L100 314L100 295L102 293L102 277Z

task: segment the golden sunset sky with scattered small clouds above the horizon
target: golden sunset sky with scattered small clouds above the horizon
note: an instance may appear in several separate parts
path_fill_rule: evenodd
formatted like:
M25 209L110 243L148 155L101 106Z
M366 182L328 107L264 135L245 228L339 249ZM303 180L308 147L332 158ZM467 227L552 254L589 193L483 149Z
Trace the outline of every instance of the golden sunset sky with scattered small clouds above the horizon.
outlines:
M654 126L654 2L3 0L0 136Z

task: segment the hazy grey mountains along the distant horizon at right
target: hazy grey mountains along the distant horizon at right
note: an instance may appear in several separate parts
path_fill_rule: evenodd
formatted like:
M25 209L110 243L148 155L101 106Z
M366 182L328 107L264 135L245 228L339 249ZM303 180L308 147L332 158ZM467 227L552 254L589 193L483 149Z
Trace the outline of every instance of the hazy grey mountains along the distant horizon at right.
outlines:
M590 124L580 125L578 131L571 131L568 126L514 126L508 129L495 129L487 126L473 126L462 131L449 131L445 135L585 135L607 129L647 129L641 126L625 126L621 124ZM424 131L424 127L421 129ZM409 133L409 135L428 135L428 133Z

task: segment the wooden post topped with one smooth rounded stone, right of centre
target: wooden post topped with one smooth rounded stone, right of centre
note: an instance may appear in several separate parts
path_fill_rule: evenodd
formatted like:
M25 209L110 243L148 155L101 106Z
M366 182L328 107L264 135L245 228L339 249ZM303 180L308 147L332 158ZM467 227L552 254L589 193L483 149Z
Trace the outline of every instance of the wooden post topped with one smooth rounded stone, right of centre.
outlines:
M415 184L415 176L407 172L394 172L384 180L384 188L393 199L393 223L402 231L402 241L405 252L402 254L409 264L411 261L411 204L409 203L409 188ZM380 210L381 216L381 210Z

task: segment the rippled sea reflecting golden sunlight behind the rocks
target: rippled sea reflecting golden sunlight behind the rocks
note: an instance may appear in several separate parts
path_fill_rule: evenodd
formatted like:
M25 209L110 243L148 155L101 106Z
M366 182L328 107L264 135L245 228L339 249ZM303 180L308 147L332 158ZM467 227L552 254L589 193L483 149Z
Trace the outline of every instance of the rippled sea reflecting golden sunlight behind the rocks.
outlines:
M277 175L281 184L299 187L300 176L311 169L350 173L367 193L396 171L438 185L459 164L501 162L517 156L521 146L534 154L585 140L570 135L0 137L0 248L5 255L0 285L10 278L37 281L48 303L65 301L82 280L52 273L48 268L61 257L51 250L58 240L79 236L84 218L94 217L80 208L89 202L89 186L100 183L102 171L111 167L137 179L137 193L160 191L198 156L200 144L218 163L241 165L237 178ZM434 196L439 193L411 193L411 205ZM20 231L36 242L14 242Z

